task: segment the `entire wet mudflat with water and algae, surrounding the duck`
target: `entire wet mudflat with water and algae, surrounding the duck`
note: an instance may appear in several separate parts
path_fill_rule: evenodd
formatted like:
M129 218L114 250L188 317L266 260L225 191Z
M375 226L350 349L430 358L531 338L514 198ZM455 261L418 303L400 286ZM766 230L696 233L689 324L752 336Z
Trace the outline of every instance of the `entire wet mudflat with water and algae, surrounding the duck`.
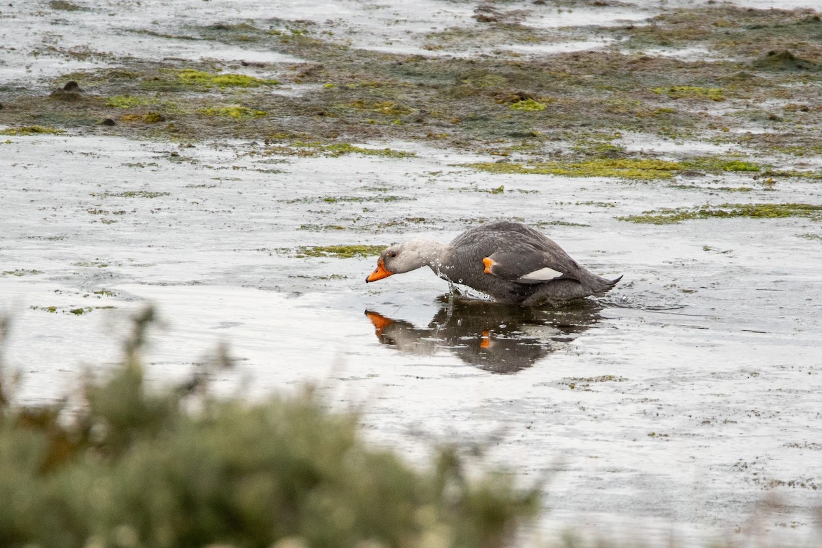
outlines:
M263 3L0 10L19 401L104 371L154 302L152 382L228 343L216 389L316 381L409 458L462 440L548 474L545 535L813 546L812 4ZM556 310L364 283L383 246L490 219L624 278Z

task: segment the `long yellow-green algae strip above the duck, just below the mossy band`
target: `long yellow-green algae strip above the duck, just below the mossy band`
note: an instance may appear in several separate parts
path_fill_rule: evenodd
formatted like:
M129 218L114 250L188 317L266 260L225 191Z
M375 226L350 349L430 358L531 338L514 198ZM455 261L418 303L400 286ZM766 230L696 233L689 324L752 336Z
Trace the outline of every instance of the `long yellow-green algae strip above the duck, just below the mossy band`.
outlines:
M566 177L619 177L624 179L667 179L682 168L681 163L652 159L592 159L582 162L480 162L461 164L488 173L527 173Z

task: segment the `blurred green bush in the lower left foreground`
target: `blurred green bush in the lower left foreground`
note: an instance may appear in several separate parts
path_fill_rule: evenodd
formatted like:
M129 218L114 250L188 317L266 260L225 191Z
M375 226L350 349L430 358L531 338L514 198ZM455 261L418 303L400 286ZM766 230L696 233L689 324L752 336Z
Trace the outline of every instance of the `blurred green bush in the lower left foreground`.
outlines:
M310 391L214 398L202 375L148 391L150 320L108 380L85 383L80 410L19 408L0 384L0 546L483 548L538 509L538 488L468 480L453 449L418 472L368 448L356 416Z

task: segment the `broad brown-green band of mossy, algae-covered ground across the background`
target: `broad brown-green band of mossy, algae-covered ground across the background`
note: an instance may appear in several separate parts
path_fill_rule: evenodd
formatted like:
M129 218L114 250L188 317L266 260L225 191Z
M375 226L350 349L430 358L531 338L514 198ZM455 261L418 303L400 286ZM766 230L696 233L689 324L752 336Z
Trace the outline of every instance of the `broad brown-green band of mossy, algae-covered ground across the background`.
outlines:
M253 43L304 62L257 63L252 69L258 75L250 76L252 69L240 64L115 59L113 67L60 76L52 94L0 90L2 122L12 135L62 130L169 140L231 136L300 149L302 143L418 140L520 154L534 162L550 159L557 169L565 162L572 174L583 162L635 160L603 142L603 132L736 143L762 154L822 151L822 21L814 12L715 4L668 9L648 25L552 32L516 20L500 9L478 16L480 31L451 28L425 39L432 52L498 45L492 54L468 57L353 48L310 21L217 21L167 36L145 30L159 39ZM599 50L530 57L506 49L594 33L617 41ZM89 54L55 48L53 55L66 58ZM676 48L709 54L707 60L658 54ZM63 90L68 81L79 89ZM279 94L282 85L299 92ZM105 120L108 125L100 126ZM634 175L645 177L629 177Z

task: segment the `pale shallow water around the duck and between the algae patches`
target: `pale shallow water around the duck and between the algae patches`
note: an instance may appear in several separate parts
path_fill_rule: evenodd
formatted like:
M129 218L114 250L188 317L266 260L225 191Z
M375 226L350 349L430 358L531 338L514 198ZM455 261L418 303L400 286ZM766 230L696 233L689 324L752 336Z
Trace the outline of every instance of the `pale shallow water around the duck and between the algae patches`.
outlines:
M61 13L51 29L70 27L85 43L99 28L96 48L162 56L149 35L141 44L118 42L145 26L141 10L165 6L150 23L159 32L173 16L192 24L261 16L263 3L181 2L174 11L141 2L110 19L99 3L92 12ZM204 9L187 10L195 4ZM324 16L320 5L303 4L286 4L280 15ZM412 16L340 6L331 19L342 21L353 44L397 51L418 48L428 27L468 20L474 7L448 2ZM640 20L653 9L618 11ZM34 11L15 13L35 31L48 30ZM582 15L567 12L563 24ZM410 32L385 44L380 33L391 17ZM187 44L176 54L217 55ZM7 80L25 74L17 56L27 47L2 50ZM29 69L35 78L66 67ZM694 175L683 189L489 175L459 167L492 161L487 156L418 142L363 144L418 154L391 159L279 156L245 140L192 148L81 135L7 141L0 144L0 303L13 320L4 353L23 375L21 403L60 398L86 368L116 362L127 318L153 302L162 323L147 352L151 382L185 378L227 343L237 366L215 375L224 393L254 398L318 382L331 406L363 408L369 439L414 462L436 440L483 442L489 466L510 466L525 484L551 477L544 535L570 527L584 536L593 524L605 536L674 535L686 545L727 535L817 546L820 223L656 226L617 217L734 200L719 187L750 186L745 202L820 203L819 182L770 188L752 173L729 172ZM662 154L744 152L628 132L614 143ZM767 160L781 168L819 161ZM500 186L504 192L490 192ZM411 237L447 242L483 219L512 217L542 223L597 274L624 278L606 297L526 310L455 297L430 271L366 284L375 257L299 250ZM78 308L82 314L71 312Z

